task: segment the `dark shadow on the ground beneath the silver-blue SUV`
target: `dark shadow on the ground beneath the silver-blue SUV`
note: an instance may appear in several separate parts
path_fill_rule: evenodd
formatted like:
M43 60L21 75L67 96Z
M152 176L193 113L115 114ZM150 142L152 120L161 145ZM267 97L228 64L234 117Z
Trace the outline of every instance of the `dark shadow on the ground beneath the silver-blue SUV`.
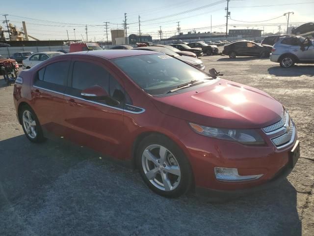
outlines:
M273 66L268 68L268 73L270 75L275 76L301 76L301 75L307 75L307 76L314 76L314 66L313 65L295 65L290 68L282 68L279 66Z

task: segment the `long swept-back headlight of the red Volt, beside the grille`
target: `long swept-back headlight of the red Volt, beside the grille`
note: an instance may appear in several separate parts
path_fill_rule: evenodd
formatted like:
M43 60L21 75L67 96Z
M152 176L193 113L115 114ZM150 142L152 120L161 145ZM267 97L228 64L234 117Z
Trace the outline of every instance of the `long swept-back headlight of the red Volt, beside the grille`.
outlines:
M199 124L189 123L192 129L201 135L211 138L223 139L238 142L245 145L262 145L264 140L255 130L252 129L222 129L211 128Z

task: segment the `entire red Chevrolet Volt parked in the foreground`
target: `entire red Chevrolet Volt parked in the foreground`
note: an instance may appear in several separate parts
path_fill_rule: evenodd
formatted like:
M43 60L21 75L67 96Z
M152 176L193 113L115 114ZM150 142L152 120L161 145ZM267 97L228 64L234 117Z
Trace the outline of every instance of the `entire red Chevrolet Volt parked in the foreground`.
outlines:
M166 197L262 189L299 157L274 98L153 51L51 58L21 72L13 96L30 141L52 133L129 161Z

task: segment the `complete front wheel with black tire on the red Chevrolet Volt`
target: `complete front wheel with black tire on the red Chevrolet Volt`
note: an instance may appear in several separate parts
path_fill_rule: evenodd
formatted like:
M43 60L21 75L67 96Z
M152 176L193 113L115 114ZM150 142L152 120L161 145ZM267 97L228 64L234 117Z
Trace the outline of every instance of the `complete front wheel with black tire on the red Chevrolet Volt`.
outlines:
M160 196L177 198L191 188L190 164L183 151L170 139L162 135L146 137L139 144L135 158L144 182Z

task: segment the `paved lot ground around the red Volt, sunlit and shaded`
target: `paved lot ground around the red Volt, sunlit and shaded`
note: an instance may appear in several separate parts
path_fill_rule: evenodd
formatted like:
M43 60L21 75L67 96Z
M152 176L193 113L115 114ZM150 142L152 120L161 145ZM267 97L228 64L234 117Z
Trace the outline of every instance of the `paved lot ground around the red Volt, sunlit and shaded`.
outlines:
M221 49L220 49L221 51ZM30 143L0 77L0 235L314 235L314 66L204 56L206 70L279 100L293 118L301 157L275 189L225 203L194 194L166 199L137 171L68 143Z

